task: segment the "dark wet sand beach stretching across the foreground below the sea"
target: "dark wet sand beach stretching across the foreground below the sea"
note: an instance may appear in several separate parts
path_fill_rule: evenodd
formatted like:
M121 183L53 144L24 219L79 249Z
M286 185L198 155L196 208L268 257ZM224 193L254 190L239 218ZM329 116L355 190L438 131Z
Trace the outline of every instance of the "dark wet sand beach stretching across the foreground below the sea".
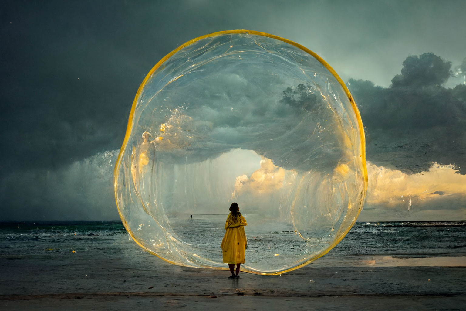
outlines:
M111 238L111 239L110 239ZM466 257L334 256L280 276L184 268L127 235L4 246L1 310L465 310ZM75 250L75 253L72 252Z

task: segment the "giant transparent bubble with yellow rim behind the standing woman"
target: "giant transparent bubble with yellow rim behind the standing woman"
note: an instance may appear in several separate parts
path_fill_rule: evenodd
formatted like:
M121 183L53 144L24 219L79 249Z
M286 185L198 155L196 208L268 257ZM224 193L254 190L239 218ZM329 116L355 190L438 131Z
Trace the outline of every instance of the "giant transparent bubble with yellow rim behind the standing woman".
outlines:
M120 216L146 251L227 269L234 201L248 223L242 270L264 275L326 254L366 188L363 125L342 80L307 48L247 30L196 38L152 68L115 167Z

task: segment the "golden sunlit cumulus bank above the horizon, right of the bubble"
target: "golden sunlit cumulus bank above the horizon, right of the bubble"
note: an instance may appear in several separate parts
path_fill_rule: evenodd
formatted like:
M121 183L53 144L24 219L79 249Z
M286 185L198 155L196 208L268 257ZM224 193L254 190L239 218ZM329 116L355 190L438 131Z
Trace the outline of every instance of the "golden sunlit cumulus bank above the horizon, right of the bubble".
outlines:
M466 175L437 163L407 174L368 162L369 185L360 221L457 221L466 217Z

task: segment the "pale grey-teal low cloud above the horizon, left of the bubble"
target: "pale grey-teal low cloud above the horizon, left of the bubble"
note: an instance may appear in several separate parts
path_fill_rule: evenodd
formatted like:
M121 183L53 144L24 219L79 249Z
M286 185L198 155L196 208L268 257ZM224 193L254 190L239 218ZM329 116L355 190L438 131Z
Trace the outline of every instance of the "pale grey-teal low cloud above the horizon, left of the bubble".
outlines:
M0 220L117 220L117 155L100 152L54 170L7 173L0 179Z

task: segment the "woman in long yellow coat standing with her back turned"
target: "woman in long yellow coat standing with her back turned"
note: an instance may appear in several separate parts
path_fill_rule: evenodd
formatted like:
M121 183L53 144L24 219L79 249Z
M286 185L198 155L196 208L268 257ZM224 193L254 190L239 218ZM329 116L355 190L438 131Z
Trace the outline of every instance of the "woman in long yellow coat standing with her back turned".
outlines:
M226 218L226 232L221 245L223 262L228 263L232 273L228 278L239 277L240 264L245 263L247 239L244 226L247 226L246 219L241 215L238 204L233 202L230 206L230 214ZM236 274L234 273L235 264Z

